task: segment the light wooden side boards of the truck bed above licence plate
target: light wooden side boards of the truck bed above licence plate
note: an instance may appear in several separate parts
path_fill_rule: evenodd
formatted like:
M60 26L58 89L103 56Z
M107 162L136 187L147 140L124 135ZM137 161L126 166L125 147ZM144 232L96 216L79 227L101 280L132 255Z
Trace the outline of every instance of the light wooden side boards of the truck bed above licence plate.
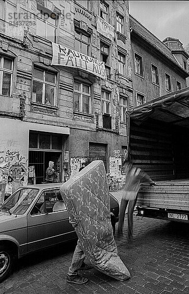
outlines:
M189 179L159 181L157 184L141 184L137 205L189 211Z

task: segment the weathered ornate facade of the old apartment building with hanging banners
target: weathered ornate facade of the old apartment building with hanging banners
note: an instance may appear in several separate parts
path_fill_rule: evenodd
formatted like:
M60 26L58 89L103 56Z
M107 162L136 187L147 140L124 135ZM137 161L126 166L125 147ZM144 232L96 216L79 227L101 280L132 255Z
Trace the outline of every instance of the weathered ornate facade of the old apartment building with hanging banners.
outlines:
M124 159L130 52L128 1L1 0L0 181L42 183L49 161L64 181L83 161L109 172L109 157Z

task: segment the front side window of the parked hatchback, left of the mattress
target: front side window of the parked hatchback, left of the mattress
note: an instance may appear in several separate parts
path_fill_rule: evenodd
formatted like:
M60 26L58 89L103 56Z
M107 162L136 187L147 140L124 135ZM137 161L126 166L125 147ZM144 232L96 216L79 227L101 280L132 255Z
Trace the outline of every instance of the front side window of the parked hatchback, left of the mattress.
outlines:
M66 210L66 205L59 190L48 190L41 194L31 211L31 215L52 213Z

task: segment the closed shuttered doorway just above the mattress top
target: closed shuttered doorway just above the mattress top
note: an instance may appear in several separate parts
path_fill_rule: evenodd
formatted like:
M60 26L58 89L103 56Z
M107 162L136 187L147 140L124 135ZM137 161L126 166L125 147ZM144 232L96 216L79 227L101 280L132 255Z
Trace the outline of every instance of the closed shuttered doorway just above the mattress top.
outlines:
M106 144L100 143L89 143L89 157L90 161L102 160L107 171L107 155L106 155Z

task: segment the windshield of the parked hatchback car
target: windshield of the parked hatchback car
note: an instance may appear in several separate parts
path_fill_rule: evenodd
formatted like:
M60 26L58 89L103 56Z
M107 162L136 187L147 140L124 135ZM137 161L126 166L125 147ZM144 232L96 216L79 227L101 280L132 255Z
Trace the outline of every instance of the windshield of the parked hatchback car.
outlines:
M0 207L1 211L24 214L38 193L38 189L22 188L16 191Z

